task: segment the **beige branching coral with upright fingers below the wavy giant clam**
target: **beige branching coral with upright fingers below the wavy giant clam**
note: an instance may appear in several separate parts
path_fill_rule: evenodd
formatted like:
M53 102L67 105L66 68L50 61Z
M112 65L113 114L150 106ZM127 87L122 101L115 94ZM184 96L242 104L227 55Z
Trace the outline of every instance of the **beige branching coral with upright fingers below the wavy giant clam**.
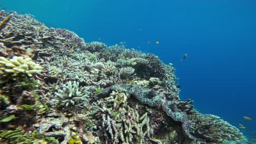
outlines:
M148 113L139 115L127 106L127 94L114 92L100 103L96 116L101 118L100 128L110 143L146 143L150 140ZM107 104L107 106L105 106ZM125 104L125 105L124 105Z

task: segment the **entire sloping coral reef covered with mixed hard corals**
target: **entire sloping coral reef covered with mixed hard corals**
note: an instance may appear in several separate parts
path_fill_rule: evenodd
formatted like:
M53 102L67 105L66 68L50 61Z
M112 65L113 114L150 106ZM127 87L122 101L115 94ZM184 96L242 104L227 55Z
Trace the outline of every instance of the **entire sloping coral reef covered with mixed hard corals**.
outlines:
M0 23L0 143L247 142L179 99L175 69L158 56L15 11Z

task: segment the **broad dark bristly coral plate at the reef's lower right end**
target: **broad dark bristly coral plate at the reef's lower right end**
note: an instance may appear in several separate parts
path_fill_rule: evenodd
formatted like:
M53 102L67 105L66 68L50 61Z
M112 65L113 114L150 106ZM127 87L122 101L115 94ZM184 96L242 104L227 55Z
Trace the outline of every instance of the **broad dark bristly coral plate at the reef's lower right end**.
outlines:
M247 143L236 127L218 116L196 112L188 115L188 118L192 127L190 133L196 136L200 143Z

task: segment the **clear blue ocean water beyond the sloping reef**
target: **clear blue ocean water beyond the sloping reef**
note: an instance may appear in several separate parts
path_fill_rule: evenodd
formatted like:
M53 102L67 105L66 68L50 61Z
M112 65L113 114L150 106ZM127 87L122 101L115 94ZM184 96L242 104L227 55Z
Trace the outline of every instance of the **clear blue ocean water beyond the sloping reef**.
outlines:
M0 5L74 31L86 42L126 42L127 48L154 53L176 68L182 100L192 99L200 112L236 127L245 125L243 133L256 131L255 1L1 0Z

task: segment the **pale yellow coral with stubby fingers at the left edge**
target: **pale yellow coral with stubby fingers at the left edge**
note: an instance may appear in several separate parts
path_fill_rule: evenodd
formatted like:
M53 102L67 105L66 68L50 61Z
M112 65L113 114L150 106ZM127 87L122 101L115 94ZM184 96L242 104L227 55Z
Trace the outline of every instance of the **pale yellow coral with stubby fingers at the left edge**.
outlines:
M31 58L23 58L14 56L8 60L0 57L0 74L1 77L11 76L12 79L22 76L33 76L38 74L42 67L32 61Z

